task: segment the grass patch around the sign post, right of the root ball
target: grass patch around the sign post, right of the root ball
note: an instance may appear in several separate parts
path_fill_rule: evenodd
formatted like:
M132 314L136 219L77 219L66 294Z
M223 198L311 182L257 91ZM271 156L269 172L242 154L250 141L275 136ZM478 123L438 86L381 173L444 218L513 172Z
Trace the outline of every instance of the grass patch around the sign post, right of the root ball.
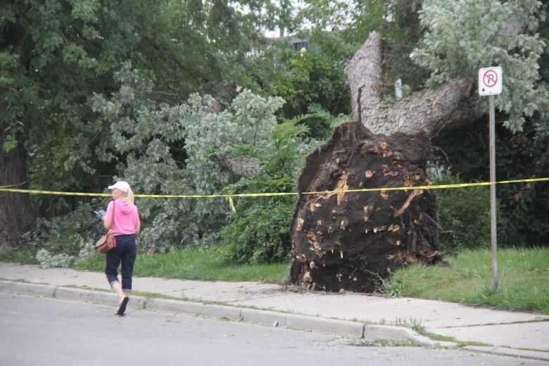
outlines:
M498 250L498 291L491 290L491 252L462 251L450 266L413 265L386 281L388 296L410 296L549 314L549 249Z

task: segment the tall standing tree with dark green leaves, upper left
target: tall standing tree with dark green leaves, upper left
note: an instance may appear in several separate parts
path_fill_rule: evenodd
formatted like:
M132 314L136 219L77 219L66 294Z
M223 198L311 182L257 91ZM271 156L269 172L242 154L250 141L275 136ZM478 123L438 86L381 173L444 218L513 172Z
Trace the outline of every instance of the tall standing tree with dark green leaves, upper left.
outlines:
M14 173L1 174L0 186L27 180L30 166L41 188L82 188L99 165L94 146L108 133L87 101L118 89L113 72L122 61L157 80L154 98L181 101L238 74L248 39L258 37L254 22L225 1L5 1L0 171ZM7 248L32 224L30 200L6 193L0 200Z

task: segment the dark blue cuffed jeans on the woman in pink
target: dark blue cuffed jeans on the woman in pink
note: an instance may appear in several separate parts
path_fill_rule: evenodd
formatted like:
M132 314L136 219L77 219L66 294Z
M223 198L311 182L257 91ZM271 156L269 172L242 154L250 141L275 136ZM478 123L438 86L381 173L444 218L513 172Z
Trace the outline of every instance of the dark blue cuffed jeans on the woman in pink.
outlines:
M118 266L122 263L122 290L124 292L132 291L132 275L134 273L135 256L137 255L137 246L135 244L135 235L115 235L116 246L106 255L105 274L108 283L113 286L118 282Z

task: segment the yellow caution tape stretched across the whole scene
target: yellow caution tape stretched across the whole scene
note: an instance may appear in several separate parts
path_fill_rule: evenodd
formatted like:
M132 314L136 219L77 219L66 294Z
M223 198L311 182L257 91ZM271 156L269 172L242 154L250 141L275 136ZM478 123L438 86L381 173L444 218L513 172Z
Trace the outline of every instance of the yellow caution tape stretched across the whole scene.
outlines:
M549 182L546 178L503 180L500 182L479 182L479 183L461 183L461 184L440 184L430 186L412 186L412 187L383 187L383 188L362 188L362 189L336 189L334 191L312 191L312 192L275 192L275 193L242 193L242 194L136 194L139 198L227 198L229 205L234 208L233 197L272 197L272 196L297 196L298 194L333 194L333 193L351 193L351 192L373 192L373 191L409 191L411 189L450 189L490 186L492 184L510 184L527 182ZM26 183L26 182L24 182ZM20 184L24 184L20 183ZM15 184L15 185L20 185ZM12 187L12 186L8 186ZM110 197L109 193L82 193L82 192L58 192L58 191L39 191L36 189L11 189L0 187L0 191L27 193L27 194L51 194L55 196L95 196Z

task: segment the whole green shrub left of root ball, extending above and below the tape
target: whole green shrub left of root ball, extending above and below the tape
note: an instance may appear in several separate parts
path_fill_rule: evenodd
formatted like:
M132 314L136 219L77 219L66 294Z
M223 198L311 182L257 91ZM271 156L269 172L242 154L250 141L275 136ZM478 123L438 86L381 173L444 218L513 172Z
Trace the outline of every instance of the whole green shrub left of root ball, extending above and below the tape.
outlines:
M308 128L298 122L310 116L284 120L274 127L273 144L266 149L258 176L243 177L223 189L224 194L288 193L296 191L294 177L314 149L302 137ZM310 141L308 141L310 142ZM227 260L252 265L288 262L290 222L296 196L250 197L236 200L233 221L221 230Z

